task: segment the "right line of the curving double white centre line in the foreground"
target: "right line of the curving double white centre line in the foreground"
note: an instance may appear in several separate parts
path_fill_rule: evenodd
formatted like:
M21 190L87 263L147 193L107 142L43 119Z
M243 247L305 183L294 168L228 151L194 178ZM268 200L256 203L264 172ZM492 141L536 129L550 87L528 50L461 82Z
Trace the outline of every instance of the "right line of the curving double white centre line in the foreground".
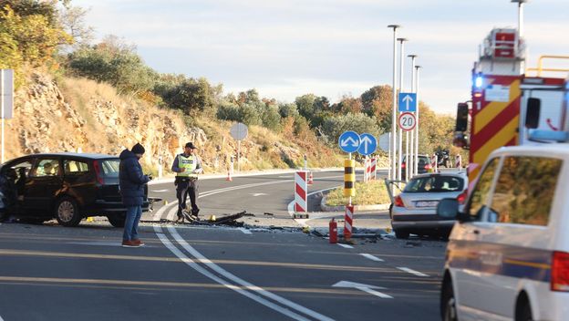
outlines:
M295 309L296 311L303 313L306 316L314 317L316 320L323 320L323 321L332 321L333 320L332 318L330 318L328 316L321 315L321 314L317 313L316 311L313 311L313 310L311 310L311 309L309 309L303 305L295 304L294 302L289 301L282 296L275 295L274 293L268 292L259 286L253 285L253 284L239 278L238 276L227 272L226 270L222 269L221 266L214 264L208 258L206 258L201 253L199 253L196 249L191 247L191 245L189 243L187 243L184 239L181 238L180 234L178 233L178 231L176 231L176 229L174 227L169 226L168 231L171 233L174 240L176 240L176 242L178 242L181 245L181 247L184 248L184 250L188 251L188 253L190 253L193 257L195 257L200 263L205 264L206 266L211 268L213 271L217 272L218 274L225 276L225 278L233 281L234 283L236 283L238 285L242 285L245 288L247 288L248 290L255 292L256 294L264 295L264 296L278 302L281 305L285 305L285 306L288 306L292 309ZM289 310L286 310L286 311L290 312Z

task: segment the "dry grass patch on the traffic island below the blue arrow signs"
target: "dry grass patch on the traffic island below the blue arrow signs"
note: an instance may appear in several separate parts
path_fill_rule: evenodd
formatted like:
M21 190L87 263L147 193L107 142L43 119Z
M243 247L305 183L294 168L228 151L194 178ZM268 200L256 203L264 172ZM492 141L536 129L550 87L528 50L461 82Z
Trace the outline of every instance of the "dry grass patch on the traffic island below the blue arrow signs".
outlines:
M356 196L352 197L353 205L385 204L389 200L388 190L383 180L369 181L367 183L356 182ZM344 187L336 188L326 195L327 206L346 205L347 197L344 197Z

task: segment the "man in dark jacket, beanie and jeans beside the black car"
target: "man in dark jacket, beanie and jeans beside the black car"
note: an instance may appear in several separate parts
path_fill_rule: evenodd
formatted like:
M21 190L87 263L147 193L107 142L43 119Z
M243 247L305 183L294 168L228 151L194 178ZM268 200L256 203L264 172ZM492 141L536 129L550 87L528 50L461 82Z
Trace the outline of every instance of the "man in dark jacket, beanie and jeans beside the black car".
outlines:
M142 215L142 202L144 202L144 185L151 177L142 173L140 158L144 154L144 147L137 143L131 150L122 150L120 153L119 185L122 203L127 207L124 233L122 234L123 247L143 246L138 237L139 222Z

